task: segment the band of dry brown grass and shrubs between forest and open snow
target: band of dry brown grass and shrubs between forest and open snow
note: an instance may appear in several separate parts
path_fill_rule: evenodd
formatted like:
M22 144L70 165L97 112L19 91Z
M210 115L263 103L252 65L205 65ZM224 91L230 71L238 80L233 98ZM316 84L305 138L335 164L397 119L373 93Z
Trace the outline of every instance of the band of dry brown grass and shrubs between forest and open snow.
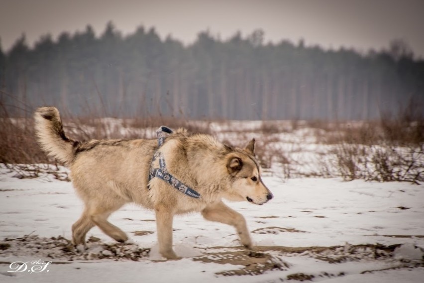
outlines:
M0 109L0 163L56 164L55 160L48 158L39 149L31 118L9 117L1 101ZM397 115L382 114L380 121L262 121L253 129L238 122L193 121L165 117L160 113L145 119L99 118L96 113L75 117L66 109L61 109L61 114L65 132L78 141L109 138L154 139L155 130L160 125L172 129L184 127L194 133L220 134L224 139L231 137L231 142L227 143L235 143L241 147L255 137L255 151L262 167L272 169L283 178L341 176L344 180L360 178L418 183L424 181L424 118L420 111L418 104L410 103ZM27 117L31 116L32 110ZM218 129L222 131L214 133L216 128L212 127L212 123L219 125ZM302 133L303 141L286 140L285 137L296 137L297 133ZM317 160L300 161L293 158L293 154L302 150L303 145L314 140L322 148L329 149L312 152L319 156ZM290 142L292 149L287 146ZM283 143L286 144L285 147L282 146ZM299 147L300 145L302 146ZM314 172L305 173L304 170L299 170L314 162L318 168ZM22 166L25 167L19 165L15 168L22 171ZM36 176L37 170L33 170L33 174Z

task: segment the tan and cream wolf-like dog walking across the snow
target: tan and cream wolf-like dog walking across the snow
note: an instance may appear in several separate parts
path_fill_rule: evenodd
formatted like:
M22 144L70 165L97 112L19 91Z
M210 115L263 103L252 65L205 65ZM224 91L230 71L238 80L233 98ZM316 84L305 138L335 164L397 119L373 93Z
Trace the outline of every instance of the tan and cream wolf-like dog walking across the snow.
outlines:
M159 252L167 259L178 258L172 248L174 215L195 211L207 220L234 226L240 242L252 247L244 217L225 205L222 198L254 204L273 198L261 179L254 139L238 148L211 135L179 129L160 147L156 140L144 139L81 142L65 135L55 107L38 108L34 118L41 148L69 166L73 186L85 204L80 219L72 225L74 245L85 244L87 232L95 225L114 240L125 242L126 234L107 218L125 203L133 202L155 211ZM156 151L166 160L167 170L199 192L200 198L185 195L157 177L149 182ZM153 166L159 167L158 160Z

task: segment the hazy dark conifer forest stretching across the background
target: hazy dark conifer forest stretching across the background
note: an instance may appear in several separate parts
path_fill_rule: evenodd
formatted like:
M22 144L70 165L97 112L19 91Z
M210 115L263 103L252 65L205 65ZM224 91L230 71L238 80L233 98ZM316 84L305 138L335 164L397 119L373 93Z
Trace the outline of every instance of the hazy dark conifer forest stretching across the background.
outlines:
M361 54L263 38L206 31L184 46L142 26L122 36L110 22L99 37L87 26L33 48L22 36L0 49L1 103L13 115L48 104L110 117L332 120L375 119L424 97L424 61L401 40Z

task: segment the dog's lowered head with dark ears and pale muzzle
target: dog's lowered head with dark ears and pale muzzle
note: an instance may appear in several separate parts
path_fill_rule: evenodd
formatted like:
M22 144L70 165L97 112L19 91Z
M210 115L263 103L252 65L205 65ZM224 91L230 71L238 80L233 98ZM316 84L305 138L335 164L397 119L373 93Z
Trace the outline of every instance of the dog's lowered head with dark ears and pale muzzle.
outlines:
M235 148L226 155L229 174L228 200L247 200L254 204L264 204L273 198L270 190L262 182L261 168L255 157L255 139L244 148Z

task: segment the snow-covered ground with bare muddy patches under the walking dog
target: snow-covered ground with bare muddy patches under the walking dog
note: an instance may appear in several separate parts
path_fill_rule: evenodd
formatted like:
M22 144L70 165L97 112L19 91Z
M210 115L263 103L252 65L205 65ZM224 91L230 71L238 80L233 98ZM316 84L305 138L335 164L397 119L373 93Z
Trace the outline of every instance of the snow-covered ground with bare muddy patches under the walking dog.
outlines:
M82 202L71 183L15 174L0 168L1 283L424 282L424 185L265 174L274 199L229 203L246 217L254 251L239 246L232 227L192 214L174 221L183 259L165 261L153 212L127 205L109 218L129 244L94 228L90 243L74 248Z

